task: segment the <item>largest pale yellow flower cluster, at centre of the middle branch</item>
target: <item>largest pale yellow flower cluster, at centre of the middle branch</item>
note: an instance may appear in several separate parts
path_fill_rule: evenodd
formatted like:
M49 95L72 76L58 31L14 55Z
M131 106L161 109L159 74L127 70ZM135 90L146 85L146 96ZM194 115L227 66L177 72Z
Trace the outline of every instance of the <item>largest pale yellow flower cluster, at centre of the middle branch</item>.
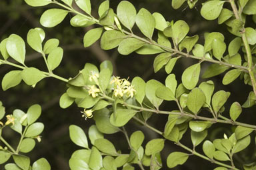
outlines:
M113 77L113 80L110 84L114 84L114 95L115 97L123 97L126 95L127 97L133 97L136 93L133 85L128 81L128 79L120 79L120 77Z

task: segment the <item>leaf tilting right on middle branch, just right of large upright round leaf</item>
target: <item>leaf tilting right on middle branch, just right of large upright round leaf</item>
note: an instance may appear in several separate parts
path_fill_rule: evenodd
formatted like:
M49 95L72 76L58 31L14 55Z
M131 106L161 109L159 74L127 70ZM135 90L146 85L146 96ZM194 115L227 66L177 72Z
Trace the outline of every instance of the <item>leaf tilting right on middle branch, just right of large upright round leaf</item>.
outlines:
M226 92L226 91L217 91L214 95L213 95L213 99L211 101L212 105L213 105L213 111L215 112L215 114L217 115L219 109L221 109L221 107L223 107L223 105L226 103L227 99L229 98L230 93Z

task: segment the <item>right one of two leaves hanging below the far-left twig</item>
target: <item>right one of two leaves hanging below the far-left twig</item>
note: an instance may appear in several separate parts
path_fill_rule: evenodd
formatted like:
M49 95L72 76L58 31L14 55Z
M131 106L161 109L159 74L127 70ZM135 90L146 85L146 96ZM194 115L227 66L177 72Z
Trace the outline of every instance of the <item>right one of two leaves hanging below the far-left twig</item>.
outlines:
M28 67L23 69L23 71L21 72L21 77L27 85L35 85L46 76L39 69L36 69L34 67Z

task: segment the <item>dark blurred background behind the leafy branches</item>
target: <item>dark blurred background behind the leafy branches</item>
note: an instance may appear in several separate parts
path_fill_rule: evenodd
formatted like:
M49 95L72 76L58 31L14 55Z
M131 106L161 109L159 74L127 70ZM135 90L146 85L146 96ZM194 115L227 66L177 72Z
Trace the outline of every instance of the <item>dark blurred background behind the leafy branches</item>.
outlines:
M92 0L92 11L93 15L97 17L97 8L99 7L102 0ZM111 0L111 7L115 10L120 1ZM203 44L203 34L205 32L220 31L225 35L225 42L229 43L234 36L231 35L225 25L218 25L217 21L205 21L200 15L201 3L199 1L194 9L189 9L187 4L174 10L171 7L171 0L139 0L131 1L139 11L141 7L148 9L151 13L159 12L162 13L167 21L177 21L183 19L190 26L189 35L199 35L199 43ZM22 0L1 0L0 1L0 40L5 39L11 33L15 33L26 39L27 32L29 29L34 27L41 27L39 19L43 11L49 8L56 7L55 5L47 5L45 7L29 7ZM227 6L228 7L228 6ZM96 13L96 15L95 15ZM79 70L83 69L85 63L93 63L97 66L102 61L109 59L114 66L114 73L123 78L130 77L131 80L135 76L142 77L145 81L149 79L157 79L164 82L167 73L164 69L161 69L158 73L153 72L153 60L156 55L137 55L132 53L128 56L119 55L117 49L110 51L103 51L100 48L99 41L89 48L83 47L83 36L88 28L77 28L72 27L69 23L69 20L73 17L72 14L67 15L65 20L57 27L53 28L43 28L46 33L46 38L57 38L60 41L60 46L64 49L64 56L61 65L55 70L55 74L61 75L62 77L69 78L74 77ZM249 17L249 25L255 27L255 24L251 22ZM138 29L135 28L135 33L141 35ZM154 35L157 35L156 33ZM141 35L143 36L143 35ZM44 42L45 42L44 41ZM40 69L46 70L46 67L43 62L43 57L38 53L35 53L27 45L27 56L26 64L28 66L37 67ZM181 83L181 74L189 65L197 63L195 59L182 58L179 59L173 73L177 77L178 83ZM203 63L201 74L209 66L210 63ZM9 67L7 65L0 66L0 79L15 68ZM230 91L231 96L227 102L226 111L224 115L228 117L229 107L234 101L238 101L243 104L247 99L249 91L252 91L252 88L249 85L244 85L243 80L237 79L230 85L222 85L221 80L224 74L214 77L212 80L215 83L215 91L223 89L225 91ZM201 81L207 81L205 79L200 79ZM65 170L69 169L68 160L71 157L71 154L76 149L79 149L75 144L69 139L68 127L71 124L79 125L87 133L89 126L94 123L92 119L85 119L81 117L81 108L78 108L76 105L71 105L68 109L61 109L59 107L59 97L65 93L67 87L65 83L57 79L44 79L39 82L35 88L21 83L17 87L9 89L7 91L0 91L0 100L3 102L3 105L6 107L7 114L11 114L14 109L22 109L27 111L29 106L38 103L42 106L43 111L42 115L39 118L39 121L45 124L45 130L42 133L41 143L37 143L35 149L29 153L31 157L31 162L36 161L40 157L45 157L53 170ZM175 103L166 102L163 103L160 109L163 110L172 110L177 109ZM238 121L245 123L255 124L255 107L251 109L243 109L242 116ZM167 116L165 115L153 115L149 119L149 124L153 125L157 129L163 131ZM145 127L141 127L137 123L130 121L127 124L127 130L129 134L137 129L141 129L145 132L145 141L150 139L157 138L159 135L153 133ZM207 139L213 141L213 139L219 137L223 138L223 133L226 133L228 136L232 133L231 125L222 125L216 124L213 125L209 130L209 135ZM13 131L5 131L5 137L13 145L17 145L17 138L19 135ZM121 133L115 135L105 135L110 139L117 149L123 151L123 153L129 153L127 142L125 137ZM253 139L253 138L252 138ZM183 136L181 143L192 147L190 139L190 130L187 130L187 133ZM143 143L145 147L146 142ZM1 143L0 143L1 145ZM236 163L251 163L255 161L255 142L252 140L250 147L245 149L245 151L237 154L235 156ZM201 145L197 147L199 152L201 151ZM173 144L171 141L165 142L165 149L162 151L163 158L163 169L167 169L165 160L167 155L172 151L184 151ZM175 169L214 169L216 165L205 161L199 157L191 156L185 165L179 165ZM1 165L0 165L0 169ZM139 169L138 167L136 169Z

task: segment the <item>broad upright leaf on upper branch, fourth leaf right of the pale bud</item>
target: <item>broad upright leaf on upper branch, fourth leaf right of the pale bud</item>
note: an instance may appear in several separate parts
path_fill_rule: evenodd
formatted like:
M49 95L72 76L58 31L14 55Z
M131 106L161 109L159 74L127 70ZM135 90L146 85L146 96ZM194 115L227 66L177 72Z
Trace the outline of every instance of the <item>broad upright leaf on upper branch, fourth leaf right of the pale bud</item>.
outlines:
M189 33L189 25L182 20L176 21L171 29L173 41L176 44L179 44L186 37L187 33Z

